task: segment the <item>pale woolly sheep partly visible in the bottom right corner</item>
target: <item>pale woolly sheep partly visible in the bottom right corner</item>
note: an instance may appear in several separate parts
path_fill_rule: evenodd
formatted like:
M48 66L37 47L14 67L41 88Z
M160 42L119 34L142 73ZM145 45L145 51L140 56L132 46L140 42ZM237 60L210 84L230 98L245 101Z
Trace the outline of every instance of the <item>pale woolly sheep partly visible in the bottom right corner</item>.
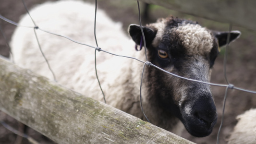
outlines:
M228 144L256 144L256 109L250 109L236 117Z

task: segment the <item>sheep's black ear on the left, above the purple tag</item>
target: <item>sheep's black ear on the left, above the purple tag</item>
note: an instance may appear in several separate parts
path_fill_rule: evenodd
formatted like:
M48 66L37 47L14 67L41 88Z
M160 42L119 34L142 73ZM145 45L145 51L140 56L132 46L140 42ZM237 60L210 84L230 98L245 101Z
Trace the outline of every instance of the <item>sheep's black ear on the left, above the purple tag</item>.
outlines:
M146 45L150 45L153 41L153 39L156 36L156 32L146 26L142 26L143 29L143 33L145 36L145 40L146 40ZM140 29L140 25L137 24L131 24L129 26L128 32L130 34L130 36L132 37L132 39L134 40L134 42L137 45L140 45L141 43L141 37L142 37L142 33L141 33L141 29Z

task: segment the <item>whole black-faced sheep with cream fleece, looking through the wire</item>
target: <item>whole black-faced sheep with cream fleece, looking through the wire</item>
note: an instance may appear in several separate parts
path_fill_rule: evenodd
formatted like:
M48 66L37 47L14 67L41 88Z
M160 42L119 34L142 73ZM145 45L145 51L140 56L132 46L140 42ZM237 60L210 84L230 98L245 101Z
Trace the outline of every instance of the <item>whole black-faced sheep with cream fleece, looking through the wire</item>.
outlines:
M40 4L30 14L40 29L95 46L94 9L94 5L82 1L60 0ZM19 24L33 23L26 14ZM100 48L146 61L144 50L131 49L134 42L144 46L139 25L129 26L129 38L122 24L98 10L96 26ZM143 26L143 32L148 61L168 72L205 82L210 80L218 49L226 44L228 34L171 16ZM34 35L33 29L15 29L11 41L13 59L21 67L52 79ZM58 83L103 101L94 70L95 49L42 31L37 31L37 36ZM239 31L232 31L231 41L239 36ZM136 60L97 53L98 78L107 104L146 120L140 107L142 67L143 63ZM186 81L153 67L145 67L142 82L142 105L152 124L177 135L184 127L196 137L212 132L217 113L210 85Z

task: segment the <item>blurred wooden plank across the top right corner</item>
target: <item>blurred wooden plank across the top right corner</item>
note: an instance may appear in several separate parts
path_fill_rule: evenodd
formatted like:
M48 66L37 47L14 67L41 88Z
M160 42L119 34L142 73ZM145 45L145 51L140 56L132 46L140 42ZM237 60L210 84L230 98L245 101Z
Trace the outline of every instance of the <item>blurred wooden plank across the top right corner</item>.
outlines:
M256 0L140 0L165 8L256 30Z

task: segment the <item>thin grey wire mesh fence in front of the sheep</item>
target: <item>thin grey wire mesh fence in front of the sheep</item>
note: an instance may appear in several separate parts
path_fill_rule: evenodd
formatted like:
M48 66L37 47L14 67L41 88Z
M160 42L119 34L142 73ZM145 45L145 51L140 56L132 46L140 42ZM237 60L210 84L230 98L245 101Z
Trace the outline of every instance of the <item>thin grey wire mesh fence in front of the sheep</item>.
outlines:
M140 24L140 27L141 27L141 32L142 32L142 36L143 36L143 41L144 41L144 49L145 49L145 57L146 57L146 61L143 61L143 60L139 60L139 59L136 59L134 57L129 57L129 56L125 56L125 55L117 55L117 54L114 54L114 53L111 53L111 52L108 52L106 50L104 50L104 48L99 48L98 47L98 42L97 42L97 36L96 36L96 28L97 28L97 25L96 25L96 17L97 17L97 0L95 0L95 19L94 19L94 37L95 37L95 42L96 42L96 46L91 46L91 45L87 45L85 43L81 43L81 42L78 42L78 41L75 41L73 40L72 38L70 37L67 37L67 36L63 36L63 35L60 35L60 34L56 34L56 33L52 33L52 32L49 32L47 30L43 30L41 29L36 23L35 21L33 20L33 18L31 17L29 11L28 11L28 8L26 6L26 3L24 2L24 0L22 0L23 4L24 4L24 8L26 9L26 12L27 14L30 16L31 20L33 21L34 23L34 26L28 26L28 25L20 25L18 23L15 23L13 22L12 20L8 19L8 18L5 18L3 17L2 15L0 15L0 19L2 19L3 21L6 21L10 24L13 24L13 25L16 25L16 26L21 26L21 27L26 27L26 28L31 28L31 29L34 29L34 33L35 33L35 36L37 38L37 43L38 43L38 47L42 53L42 56L44 57L45 61L47 62L48 64L48 67L49 67L49 71L52 73L53 75L53 79L55 82L58 82L58 80L56 79L56 76L54 74L54 72L52 71L51 67L50 67L50 64L47 60L47 58L45 57L42 49L41 49L41 45L40 45L40 42L39 42L39 39L37 37L37 30L40 30L40 31L43 31L45 33L49 33L51 35L55 35L55 36L61 36L63 38L66 38L74 43L77 43L79 45L85 45L87 47L90 47L90 48L95 48L95 72L96 72L96 76L97 76L97 80L98 80L98 84L99 84L99 87L100 87L100 90L102 92L102 95L104 97L104 101L106 103L106 99L105 99L105 95L104 95L104 92L101 88L101 85L100 85L100 80L98 79L98 73L97 73L97 51L102 51L102 52L105 52L105 53L108 53L108 54L111 54L111 55L114 55L114 56L117 56L117 57L124 57L124 58L128 58L128 59L133 59L133 60L137 60L138 62L141 62L141 63L144 63L144 66L143 66L143 70L142 70L142 74L141 74L141 82L140 82L140 105L141 105L141 110L144 114L144 116L146 117L146 114L144 113L144 110L143 110L143 105L142 105L142 94L141 94L141 90L142 90L142 79L143 79L143 75L144 75L144 70L145 70L145 67L146 66L150 66L150 67L154 67L154 68L157 68L158 70L162 71L162 72L166 72L168 74L171 74L172 76L175 76L175 77L178 77L178 78L181 78L181 79L185 79L187 81L193 81L193 82L198 82L198 83L202 83L202 84L209 84L209 85L213 85L213 86L219 86L219 87L226 87L225 89L225 94L224 94L224 99L223 99L223 107L222 107L222 117L221 117L221 124L219 126L219 131L218 131L218 136L217 136L217 144L219 144L219 133L221 131L221 127L222 127L222 124L223 124L223 120L224 120L224 111L225 111L225 104L226 104L226 99L227 99L227 96L228 96L228 90L229 89L236 89L236 90L239 90L239 91L244 91L244 92L248 92L248 93L252 93L252 94L256 94L256 91L252 91L252 90L248 90L248 89L244 89L244 88L240 88L240 87L237 87L233 84L231 84L229 81L228 81L228 78L227 78L227 72L226 72L226 63L227 63L227 53L228 53L228 48L229 48L229 39L230 39L230 32L232 30L232 24L229 25L229 34L228 34L228 39L227 39L227 45L226 45L226 49L225 49L225 54L224 54L224 78L225 78L225 81L227 84L215 84L215 83L209 83L209 82L203 82L203 81L199 81L199 80L195 80L195 79L190 79L190 78L186 78L186 77L183 77L183 76L179 76L179 75L176 75L174 73L171 73L171 72L167 72L163 69L161 69L160 67L152 64L150 61L147 61L147 56L146 56L146 40L145 40L145 36L144 36L144 33L143 33L143 30L142 30L142 24L141 24L141 16L140 16L140 5L139 5L139 1L137 0L137 6L138 6L138 21L139 21L139 24ZM10 54L12 55L12 51L11 51L11 48L8 44L8 41L6 39L6 36L4 34L4 32L2 31L1 27L0 27L0 32L1 34L3 35L6 43L7 43L7 47L10 49ZM14 63L14 61L13 61ZM148 118L146 117L146 120L148 120ZM149 120L148 120L149 122ZM3 125L6 125L5 123L3 123ZM8 126L6 126L8 127ZM16 133L16 132L14 132ZM20 134L21 135L21 134ZM27 137L27 136L26 136Z

